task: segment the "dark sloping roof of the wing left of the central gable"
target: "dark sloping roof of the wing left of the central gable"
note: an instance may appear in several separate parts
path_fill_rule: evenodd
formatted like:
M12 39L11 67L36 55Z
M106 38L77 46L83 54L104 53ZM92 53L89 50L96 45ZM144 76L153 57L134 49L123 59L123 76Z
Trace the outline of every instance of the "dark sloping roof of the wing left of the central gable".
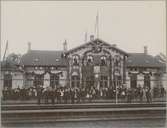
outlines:
M30 50L21 58L26 66L67 66L67 60L62 57L63 51Z

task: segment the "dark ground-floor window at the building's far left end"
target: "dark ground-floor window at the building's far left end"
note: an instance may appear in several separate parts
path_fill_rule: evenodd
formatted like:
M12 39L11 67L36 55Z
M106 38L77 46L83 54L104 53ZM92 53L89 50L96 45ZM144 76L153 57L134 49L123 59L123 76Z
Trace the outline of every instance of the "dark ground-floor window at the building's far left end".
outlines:
M4 87L12 88L12 75L11 74L4 75Z

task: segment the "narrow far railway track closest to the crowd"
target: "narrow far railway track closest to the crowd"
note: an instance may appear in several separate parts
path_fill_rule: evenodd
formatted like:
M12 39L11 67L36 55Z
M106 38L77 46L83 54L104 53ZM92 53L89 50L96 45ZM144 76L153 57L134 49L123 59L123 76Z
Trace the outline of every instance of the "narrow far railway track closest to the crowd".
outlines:
M88 108L143 108L143 107L166 107L161 103L84 103L84 104L10 104L1 105L1 110L43 110L43 109L88 109Z

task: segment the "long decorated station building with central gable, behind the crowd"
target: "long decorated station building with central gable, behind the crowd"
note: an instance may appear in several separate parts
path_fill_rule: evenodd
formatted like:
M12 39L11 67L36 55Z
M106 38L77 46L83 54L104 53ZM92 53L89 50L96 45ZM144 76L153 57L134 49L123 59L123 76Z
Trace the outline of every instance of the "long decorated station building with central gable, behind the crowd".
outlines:
M2 62L3 87L115 87L166 86L165 62L143 53L128 53L99 38L68 50L67 42L62 51L32 50L17 63ZM165 81L165 82L164 82Z

